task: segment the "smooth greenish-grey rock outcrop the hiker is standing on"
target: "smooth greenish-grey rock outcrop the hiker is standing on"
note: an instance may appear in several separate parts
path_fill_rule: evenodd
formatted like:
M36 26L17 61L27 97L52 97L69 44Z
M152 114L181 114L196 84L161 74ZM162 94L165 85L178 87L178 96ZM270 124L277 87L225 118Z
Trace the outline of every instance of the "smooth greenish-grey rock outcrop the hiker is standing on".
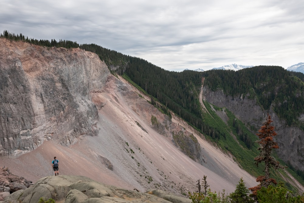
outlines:
M190 199L160 190L139 192L105 185L84 176L50 176L38 180L32 187L7 196L2 203L36 203L40 198L56 202L175 202L190 203Z

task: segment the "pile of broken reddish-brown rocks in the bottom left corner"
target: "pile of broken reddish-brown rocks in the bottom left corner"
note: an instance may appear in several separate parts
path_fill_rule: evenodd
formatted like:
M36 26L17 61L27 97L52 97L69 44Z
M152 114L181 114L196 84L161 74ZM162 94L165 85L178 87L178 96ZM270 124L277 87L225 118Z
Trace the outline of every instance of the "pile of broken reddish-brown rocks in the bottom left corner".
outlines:
M0 201L9 194L24 190L31 185L33 185L32 181L10 173L7 167L0 169Z

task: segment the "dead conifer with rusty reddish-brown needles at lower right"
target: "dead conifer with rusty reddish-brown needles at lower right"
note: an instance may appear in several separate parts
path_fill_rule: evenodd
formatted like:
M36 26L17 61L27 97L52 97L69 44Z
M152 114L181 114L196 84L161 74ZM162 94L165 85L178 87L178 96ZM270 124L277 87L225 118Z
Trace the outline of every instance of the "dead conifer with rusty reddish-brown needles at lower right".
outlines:
M274 178L270 178L270 168L274 168L275 170L280 168L285 168L285 166L280 165L278 161L275 160L274 157L271 156L271 150L272 149L278 149L278 143L273 141L273 137L277 135L277 133L274 131L275 127L271 126L271 117L269 114L266 121L263 123L263 126L261 129L259 129L259 133L257 133L257 136L259 136L260 140L257 142L259 143L260 147L258 150L260 150L260 154L254 158L255 164L258 166L259 163L264 162L265 163L265 175L257 177L258 184L255 187L249 188L253 195L257 194L257 191L261 189L261 187L267 188L271 183L277 184L276 180Z

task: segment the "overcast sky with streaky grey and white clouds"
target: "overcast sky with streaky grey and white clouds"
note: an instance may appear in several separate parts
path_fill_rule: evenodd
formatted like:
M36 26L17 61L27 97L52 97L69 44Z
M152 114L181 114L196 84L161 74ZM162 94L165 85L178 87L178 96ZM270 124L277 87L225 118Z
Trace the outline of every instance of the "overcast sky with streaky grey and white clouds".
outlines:
M95 43L170 71L304 62L303 0L2 0L4 30Z

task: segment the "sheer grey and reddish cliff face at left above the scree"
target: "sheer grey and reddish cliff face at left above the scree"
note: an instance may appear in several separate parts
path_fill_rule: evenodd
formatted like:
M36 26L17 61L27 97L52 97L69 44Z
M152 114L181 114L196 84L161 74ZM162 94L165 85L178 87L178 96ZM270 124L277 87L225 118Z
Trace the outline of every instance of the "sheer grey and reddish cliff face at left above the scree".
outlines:
M27 153L43 140L68 146L96 134L98 110L89 93L109 74L91 52L0 39L0 156Z

